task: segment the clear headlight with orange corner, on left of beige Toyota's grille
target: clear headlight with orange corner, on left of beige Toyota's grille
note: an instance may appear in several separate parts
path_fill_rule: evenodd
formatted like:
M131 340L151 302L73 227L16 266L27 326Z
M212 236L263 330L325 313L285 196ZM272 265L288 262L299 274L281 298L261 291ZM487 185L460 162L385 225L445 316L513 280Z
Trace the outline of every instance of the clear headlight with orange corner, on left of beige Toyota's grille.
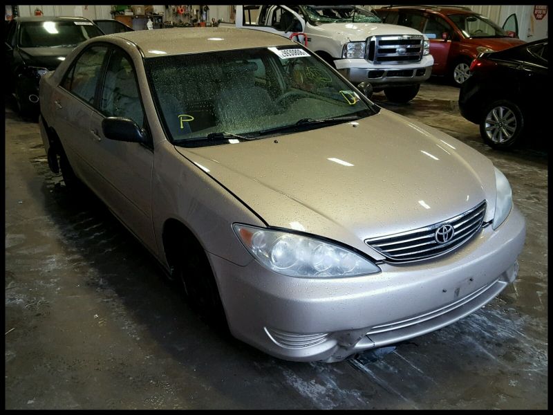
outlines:
M355 277L380 272L361 255L300 234L235 223L234 232L257 261L290 277Z

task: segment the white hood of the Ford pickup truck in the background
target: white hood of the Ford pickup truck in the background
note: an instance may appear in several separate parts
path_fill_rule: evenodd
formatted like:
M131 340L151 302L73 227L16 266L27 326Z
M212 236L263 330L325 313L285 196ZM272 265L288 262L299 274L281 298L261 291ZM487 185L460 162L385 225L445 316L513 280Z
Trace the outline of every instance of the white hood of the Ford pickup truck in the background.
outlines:
M341 37L344 42L364 41L373 35L422 35L406 26L383 23L326 23L313 27L317 34L328 33L330 37Z

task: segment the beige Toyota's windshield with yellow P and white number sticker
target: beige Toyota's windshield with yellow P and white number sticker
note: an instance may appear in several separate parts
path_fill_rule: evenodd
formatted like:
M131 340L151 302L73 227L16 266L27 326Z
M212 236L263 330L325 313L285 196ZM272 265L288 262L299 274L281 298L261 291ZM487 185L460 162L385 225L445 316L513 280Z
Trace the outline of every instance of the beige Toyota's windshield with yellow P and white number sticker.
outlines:
M144 64L165 131L179 145L263 138L377 112L300 45L152 57Z

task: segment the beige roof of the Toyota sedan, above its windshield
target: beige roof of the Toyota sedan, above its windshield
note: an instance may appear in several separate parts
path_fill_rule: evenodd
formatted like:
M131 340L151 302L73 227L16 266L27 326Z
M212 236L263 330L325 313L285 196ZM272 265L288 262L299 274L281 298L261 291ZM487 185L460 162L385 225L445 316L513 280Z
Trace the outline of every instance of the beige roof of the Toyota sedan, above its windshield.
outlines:
M142 50L144 57L297 45L297 42L272 33L224 27L136 30L107 36L133 42ZM102 37L94 39L101 41Z

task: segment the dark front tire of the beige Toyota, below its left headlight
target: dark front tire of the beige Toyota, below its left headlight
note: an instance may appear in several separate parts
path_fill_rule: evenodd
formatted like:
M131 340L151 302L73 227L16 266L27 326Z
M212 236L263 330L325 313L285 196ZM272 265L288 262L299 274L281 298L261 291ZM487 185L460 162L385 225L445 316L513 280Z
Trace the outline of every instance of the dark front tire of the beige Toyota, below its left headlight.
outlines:
M209 260L199 243L189 239L177 243L179 253L173 255L171 279L182 284L189 306L207 323L227 328L223 303Z

